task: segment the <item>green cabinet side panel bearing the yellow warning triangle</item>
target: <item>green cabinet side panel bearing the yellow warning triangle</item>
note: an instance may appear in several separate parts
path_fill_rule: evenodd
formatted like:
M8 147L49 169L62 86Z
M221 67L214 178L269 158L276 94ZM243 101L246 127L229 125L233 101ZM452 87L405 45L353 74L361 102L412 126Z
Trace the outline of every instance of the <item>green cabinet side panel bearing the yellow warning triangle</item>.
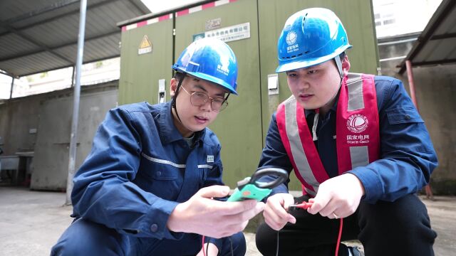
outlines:
M120 50L120 80L118 104L147 101L158 102L159 81L169 84L172 71L172 18L149 25L126 26L122 32ZM154 22L156 21L156 22ZM146 23L146 22L143 22ZM126 28L129 28L128 30ZM165 100L170 100L167 86Z

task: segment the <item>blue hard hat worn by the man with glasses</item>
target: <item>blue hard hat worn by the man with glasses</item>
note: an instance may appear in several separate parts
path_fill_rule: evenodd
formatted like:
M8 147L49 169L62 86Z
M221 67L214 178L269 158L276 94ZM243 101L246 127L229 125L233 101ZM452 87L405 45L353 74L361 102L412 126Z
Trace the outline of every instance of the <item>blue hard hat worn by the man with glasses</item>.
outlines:
M176 71L221 85L237 95L237 61L233 50L215 38L199 39L172 65Z

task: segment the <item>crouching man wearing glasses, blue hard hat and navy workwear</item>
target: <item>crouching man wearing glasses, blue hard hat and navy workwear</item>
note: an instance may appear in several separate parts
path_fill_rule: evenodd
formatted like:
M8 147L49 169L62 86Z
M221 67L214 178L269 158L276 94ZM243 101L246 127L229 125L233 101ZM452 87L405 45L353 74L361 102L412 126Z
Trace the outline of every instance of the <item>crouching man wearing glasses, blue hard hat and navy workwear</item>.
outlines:
M237 62L203 38L172 65L172 102L110 110L74 181L75 221L51 255L244 255L256 201L222 202L220 144L207 129L237 95ZM202 235L206 236L204 241Z

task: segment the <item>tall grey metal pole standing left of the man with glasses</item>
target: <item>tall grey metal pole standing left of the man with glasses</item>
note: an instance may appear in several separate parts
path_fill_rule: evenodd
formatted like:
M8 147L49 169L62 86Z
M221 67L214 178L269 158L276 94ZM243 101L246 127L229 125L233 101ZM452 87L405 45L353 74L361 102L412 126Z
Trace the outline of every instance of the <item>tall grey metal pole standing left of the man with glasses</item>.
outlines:
M66 205L71 205L73 176L76 165L76 146L78 143L79 98L81 94L81 67L83 64L84 34L86 33L87 0L81 0L79 15L78 55L76 57L76 85L73 87L73 120L71 122L70 154L68 157L68 178L66 181Z

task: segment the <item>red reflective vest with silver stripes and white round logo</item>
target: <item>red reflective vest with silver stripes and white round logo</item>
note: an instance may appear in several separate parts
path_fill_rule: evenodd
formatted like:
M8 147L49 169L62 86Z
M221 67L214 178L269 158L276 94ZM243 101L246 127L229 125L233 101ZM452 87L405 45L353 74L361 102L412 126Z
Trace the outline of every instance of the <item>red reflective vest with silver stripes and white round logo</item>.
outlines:
M338 174L377 160L380 135L373 75L348 73L343 78L336 114ZM318 186L329 176L316 150L304 109L291 96L279 105L276 119L303 193L315 196Z

